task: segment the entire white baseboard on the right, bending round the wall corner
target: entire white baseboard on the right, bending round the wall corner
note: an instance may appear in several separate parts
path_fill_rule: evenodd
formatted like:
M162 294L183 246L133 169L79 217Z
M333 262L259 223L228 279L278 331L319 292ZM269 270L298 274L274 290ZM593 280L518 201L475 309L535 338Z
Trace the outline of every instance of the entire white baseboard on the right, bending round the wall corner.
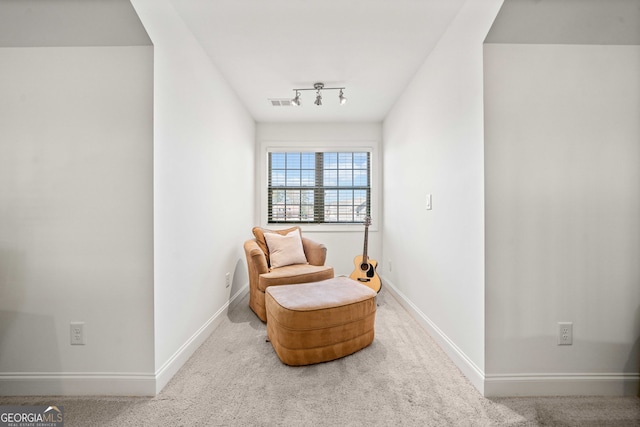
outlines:
M508 374L485 375L446 334L387 279L384 286L429 332L453 363L485 397L509 396L638 396L638 374Z

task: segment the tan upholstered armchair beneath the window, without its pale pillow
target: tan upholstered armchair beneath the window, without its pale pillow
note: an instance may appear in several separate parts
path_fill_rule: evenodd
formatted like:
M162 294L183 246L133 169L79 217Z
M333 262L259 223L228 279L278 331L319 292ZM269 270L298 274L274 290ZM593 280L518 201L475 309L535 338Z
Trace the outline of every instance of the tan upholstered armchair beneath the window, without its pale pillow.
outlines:
M301 240L306 263L271 267L269 247L265 234L276 233L281 236L287 236L295 230L300 232L299 227L292 227L286 230L266 230L254 227L253 234L255 239L247 240L244 244L247 268L249 269L249 307L263 322L267 321L264 291L268 286L317 282L331 279L334 275L333 267L324 265L327 248L321 243L304 237L301 237Z

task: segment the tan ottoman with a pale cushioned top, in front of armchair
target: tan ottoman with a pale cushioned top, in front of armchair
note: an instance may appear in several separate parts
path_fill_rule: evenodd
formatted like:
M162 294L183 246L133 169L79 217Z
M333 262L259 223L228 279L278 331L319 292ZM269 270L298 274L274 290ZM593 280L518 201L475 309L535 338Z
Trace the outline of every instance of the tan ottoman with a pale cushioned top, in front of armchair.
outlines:
M355 353L374 337L376 292L347 277L265 291L267 334L287 365L327 362Z

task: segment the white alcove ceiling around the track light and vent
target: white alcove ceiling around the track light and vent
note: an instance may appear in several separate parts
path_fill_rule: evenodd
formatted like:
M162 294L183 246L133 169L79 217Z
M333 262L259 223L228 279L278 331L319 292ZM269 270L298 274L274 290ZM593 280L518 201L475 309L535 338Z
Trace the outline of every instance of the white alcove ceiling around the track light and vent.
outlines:
M464 0L171 0L258 122L381 121ZM301 107L273 107L294 88Z

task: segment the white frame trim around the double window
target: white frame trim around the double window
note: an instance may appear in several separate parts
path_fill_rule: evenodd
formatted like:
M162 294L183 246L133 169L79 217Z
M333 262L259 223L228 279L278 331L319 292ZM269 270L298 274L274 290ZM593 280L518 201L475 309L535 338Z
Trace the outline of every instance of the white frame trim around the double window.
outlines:
M259 218L260 224L265 228L282 228L291 225L298 225L303 230L311 232L336 232L336 231L362 231L362 225L357 223L327 223L309 224L292 221L290 224L269 224L267 218L268 210L268 184L269 184L269 152L363 152L371 153L371 231L377 231L378 220L380 219L380 194L382 180L380 179L380 154L378 143L375 141L262 141L258 152L259 174L258 174L258 194L260 197Z

